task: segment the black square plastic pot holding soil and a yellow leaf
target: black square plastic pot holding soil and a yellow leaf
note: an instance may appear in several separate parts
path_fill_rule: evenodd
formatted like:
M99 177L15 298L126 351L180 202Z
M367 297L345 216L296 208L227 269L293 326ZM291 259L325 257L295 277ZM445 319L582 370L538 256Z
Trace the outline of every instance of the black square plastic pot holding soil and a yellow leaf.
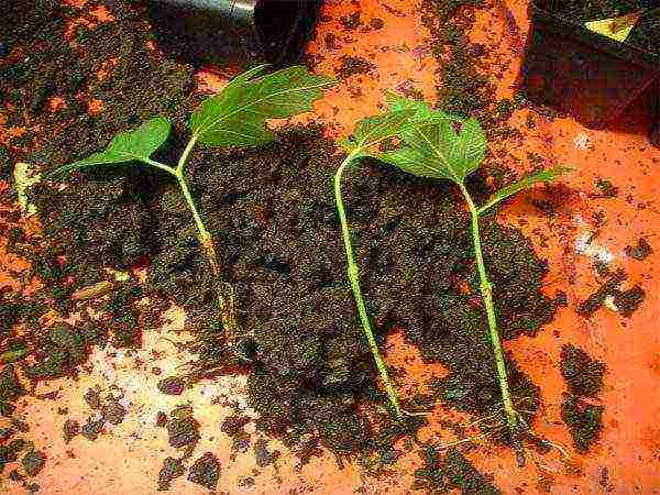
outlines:
M527 97L592 128L609 125L641 98L641 117L650 122L651 133L658 133L660 48L650 53L593 33L552 13L551 1L536 0L530 7L521 69Z

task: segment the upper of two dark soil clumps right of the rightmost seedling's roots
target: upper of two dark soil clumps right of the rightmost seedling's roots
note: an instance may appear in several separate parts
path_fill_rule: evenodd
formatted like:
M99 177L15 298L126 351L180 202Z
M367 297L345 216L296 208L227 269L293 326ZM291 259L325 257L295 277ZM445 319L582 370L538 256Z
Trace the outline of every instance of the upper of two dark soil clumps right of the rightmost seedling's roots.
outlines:
M593 360L582 349L566 344L561 350L561 374L569 392L580 397L595 397L603 389L605 363Z

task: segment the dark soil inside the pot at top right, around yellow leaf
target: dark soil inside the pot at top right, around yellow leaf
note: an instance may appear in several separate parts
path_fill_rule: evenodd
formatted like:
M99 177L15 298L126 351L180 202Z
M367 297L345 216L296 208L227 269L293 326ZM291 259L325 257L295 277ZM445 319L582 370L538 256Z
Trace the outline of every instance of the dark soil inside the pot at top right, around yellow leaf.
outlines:
M648 0L546 0L541 3L563 18L579 23L625 15L641 9L648 10L649 3L653 4ZM660 13L642 18L626 43L659 53Z

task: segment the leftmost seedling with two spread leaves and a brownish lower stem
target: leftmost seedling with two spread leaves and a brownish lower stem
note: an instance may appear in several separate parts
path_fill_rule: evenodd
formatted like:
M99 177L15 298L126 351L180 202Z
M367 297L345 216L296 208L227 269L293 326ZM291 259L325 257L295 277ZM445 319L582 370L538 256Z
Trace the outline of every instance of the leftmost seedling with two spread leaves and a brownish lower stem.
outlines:
M186 178L188 158L197 143L223 147L258 146L275 140L275 134L266 125L266 119L282 119L311 110L312 102L322 96L323 88L333 84L331 79L312 75L301 66L264 74L266 67L260 65L237 76L195 110L188 122L191 135L176 166L152 158L167 140L172 128L167 119L157 117L133 131L118 134L105 151L59 167L51 174L52 177L90 166L140 164L174 177L193 215L199 242L209 260L217 283L220 320L230 342L238 336L233 290L229 283L220 283L226 276L222 274L213 238L197 209Z

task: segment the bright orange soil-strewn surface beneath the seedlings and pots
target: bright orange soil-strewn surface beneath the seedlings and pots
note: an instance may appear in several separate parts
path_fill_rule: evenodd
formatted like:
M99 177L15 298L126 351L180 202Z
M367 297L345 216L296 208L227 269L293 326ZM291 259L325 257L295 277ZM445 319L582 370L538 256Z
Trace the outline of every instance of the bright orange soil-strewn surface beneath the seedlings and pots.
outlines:
M492 3L490 10L479 13L473 37L491 48L492 67L496 68L493 81L498 94L506 97L513 94L520 46L528 30L527 1L497 0ZM513 16L508 23L505 21L507 9ZM342 31L339 19L355 11L361 12L365 25L377 18L385 22L384 28L367 33ZM428 55L430 38L421 23L418 2L332 0L327 2L323 14L317 41L309 47L316 70L332 74L340 57L352 54L369 58L377 67L372 74L340 81L318 103L311 118L328 124L332 135L350 132L355 120L375 113L384 101L386 89L409 85L422 90L429 101L433 100L437 63ZM512 28L510 19L517 30ZM337 35L336 50L326 46L327 33ZM210 85L218 84L210 77L205 80ZM528 118L536 123L534 130L526 125ZM552 297L558 290L568 295L569 306L559 308L556 319L537 338L522 337L507 345L521 369L541 386L542 408L534 424L535 431L563 446L568 457L559 450L544 455L529 452L530 462L525 469L518 469L510 450L487 441L480 442L466 455L479 470L492 475L505 494L603 493L604 469L613 493L660 493L660 425L657 422L660 417L657 386L660 378L660 268L654 266L654 254L635 261L623 253L626 245L636 244L640 237L646 238L656 252L660 250L660 180L657 178L660 151L649 145L644 133L588 130L569 118L549 121L531 110L516 111L510 124L520 129L525 138L492 143L494 151L502 152L498 161L522 172L531 168L527 152L534 152L546 157L547 166L565 164L575 168L563 186L541 187L521 194L498 213L501 221L521 229L534 242L538 254L548 260L548 295ZM610 180L618 188L618 196L593 197L598 178ZM330 187L330 177L328 180ZM541 216L531 205L535 197L552 202L558 215L552 219ZM598 227L594 220L596 213L604 219ZM592 235L592 243L583 249L581 241ZM588 319L576 314L578 304L595 292L600 283L593 268L595 256L607 258L613 268L626 271L628 279L623 288L639 284L645 289L646 300L630 318L618 315L616 308L602 308ZM24 267L7 256L2 261L0 282L18 286ZM180 326L177 312L176 308L172 309L172 326L175 327ZM155 413L169 410L186 400L194 405L195 416L204 425L202 439L194 457L211 451L219 458L222 464L220 493L415 493L410 488L419 463L415 452L399 459L391 473L373 477L364 463L349 461L340 468L329 453L300 466L295 455L287 453L275 440L268 441L268 449L282 452L277 464L260 470L260 474L254 475L252 488L240 486L241 479L253 476L254 455L250 450L230 459L231 439L220 432L219 427L222 417L231 411L228 400L245 400L245 378L234 376L201 383L183 398L163 396L155 386L158 377L150 370L157 366L166 374L189 358L163 337L173 338L167 328L150 329L144 332L144 345L139 351L97 350L78 381L51 382L35 391L36 394L57 391L55 400L35 397L21 400L20 408L28 415L32 428L29 435L48 458L37 479L42 493L156 493L155 480L161 462L175 451L167 446L165 431L153 426ZM185 332L180 338L185 339ZM601 441L585 455L574 451L560 418L559 402L565 384L558 362L560 349L565 343L583 348L608 366L605 389L598 399L605 405L605 428ZM424 386L431 374L443 373L439 366L424 365L399 336L389 339L386 350L391 363L407 366L407 384L402 384L407 392ZM144 363L136 366L135 358L141 358ZM127 420L108 428L96 442L78 437L64 444L61 431L65 417L56 413L57 408L66 406L70 418L84 421L89 411L81 396L89 386L99 383L107 386L114 383L128 391ZM220 400L211 400L218 397ZM438 426L439 419L448 417L466 424L476 419L459 416L438 405L430 417L430 426L420 432L420 439L455 441L451 432ZM0 485L0 491L16 493L18 487L10 483ZM174 482L172 493L206 491L184 477Z

